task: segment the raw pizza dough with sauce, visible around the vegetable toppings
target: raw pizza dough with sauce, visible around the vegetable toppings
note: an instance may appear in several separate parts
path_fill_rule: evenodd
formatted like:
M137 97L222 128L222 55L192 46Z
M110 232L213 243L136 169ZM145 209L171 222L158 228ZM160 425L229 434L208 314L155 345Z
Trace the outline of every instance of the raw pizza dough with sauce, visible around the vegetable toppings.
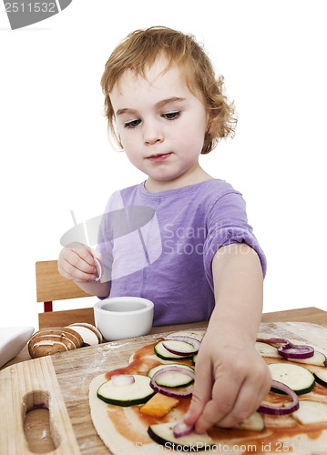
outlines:
M186 332L183 332L183 334L186 334ZM194 336L194 332L192 332L192 335ZM153 353L154 344L138 349L131 357L129 365L119 369L119 372L146 374L152 366L165 363ZM138 361L138 367L133 365L133 359L136 359L142 349L144 351L147 348L148 351L142 353L143 361ZM272 363L279 360L266 359L266 361ZM281 361L285 362L285 360ZM310 369L313 371L322 368L310 366ZM146 453L151 455L160 453L162 455L164 451L174 453L172 445L162 447L149 438L148 425L180 421L186 411L185 407L182 410L177 407L171 410L163 419L155 419L142 416L138 412L139 406L123 408L108 405L97 398L98 387L107 379L105 374L99 375L91 381L89 386L91 418L97 434L103 440L107 449L114 455L142 455ZM312 390L311 393L301 396L300 399L313 399L327 403L327 389L319 385L316 387L319 389L318 393ZM325 390L325 393L323 393L323 390ZM212 450L207 448L202 453L211 451L212 453L232 453L233 455L245 453L267 455L288 452L295 455L327 455L327 422L318 426L301 428L300 424L294 424L291 416L279 416L277 418L264 416L264 420L266 430L263 431L210 429L208 433L213 440L214 446ZM201 443L199 443L200 446ZM176 453L180 452L180 447L175 447L175 450Z

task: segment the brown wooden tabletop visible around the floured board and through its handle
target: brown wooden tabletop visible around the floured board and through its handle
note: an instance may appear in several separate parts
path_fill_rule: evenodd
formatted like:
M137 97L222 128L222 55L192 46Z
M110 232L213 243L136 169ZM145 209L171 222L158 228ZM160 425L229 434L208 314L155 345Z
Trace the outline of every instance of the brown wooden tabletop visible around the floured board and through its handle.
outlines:
M327 311L319 308L299 308L286 311L277 311L272 313L265 313L262 315L261 322L306 322L320 325L327 328ZM205 323L194 323L187 325L177 325L169 327L158 327L151 330L151 333L167 332L179 329L192 329L202 327ZM13 360L5 364L3 369L9 365L30 359L27 349L22 352ZM47 410L32 410L26 414L25 420L25 433L26 439L29 442L30 450L35 453L44 453L46 451L54 450L53 441L50 436L50 425L48 420ZM1 448L0 448L1 451Z

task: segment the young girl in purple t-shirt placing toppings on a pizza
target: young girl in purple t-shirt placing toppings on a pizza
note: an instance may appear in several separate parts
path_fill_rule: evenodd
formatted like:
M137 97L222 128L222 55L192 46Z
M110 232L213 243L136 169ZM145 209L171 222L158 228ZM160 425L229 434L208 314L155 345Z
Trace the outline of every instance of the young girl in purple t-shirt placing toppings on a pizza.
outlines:
M147 180L110 197L97 250L63 248L58 268L100 298L155 303L155 325L209 319L185 422L203 432L258 409L271 376L255 349L265 258L238 191L199 166L233 133L232 106L192 36L138 30L102 77L108 125ZM107 280L96 279L95 258Z

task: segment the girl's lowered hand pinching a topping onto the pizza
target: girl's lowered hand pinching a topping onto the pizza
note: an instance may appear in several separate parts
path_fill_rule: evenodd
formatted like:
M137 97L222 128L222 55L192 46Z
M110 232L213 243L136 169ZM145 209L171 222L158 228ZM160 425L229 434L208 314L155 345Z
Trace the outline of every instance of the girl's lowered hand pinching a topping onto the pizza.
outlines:
M227 338L227 331L222 336L207 332L199 349L193 397L184 419L198 433L247 419L271 389L271 373L254 343L235 333Z

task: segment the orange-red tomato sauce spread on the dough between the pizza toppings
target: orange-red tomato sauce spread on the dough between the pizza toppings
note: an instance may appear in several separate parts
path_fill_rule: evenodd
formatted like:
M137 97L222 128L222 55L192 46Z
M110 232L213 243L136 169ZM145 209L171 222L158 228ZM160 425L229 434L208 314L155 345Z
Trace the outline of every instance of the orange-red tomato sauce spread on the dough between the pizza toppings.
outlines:
M157 342L138 349L127 367L107 372L106 378L110 379L113 374L148 374L149 369L163 363L154 353L154 346ZM177 361L192 365L189 359ZM170 362L173 362L173 360L170 360ZM327 389L316 383L312 392L301 395L299 399L312 399L327 403ZM287 403L290 400L287 395L270 392L265 402L280 407L283 403ZM163 418L141 414L139 411L140 406L121 408L107 405L107 410L108 416L118 433L134 443L142 442L146 444L152 442L148 437L148 426L156 423L165 423L170 420L182 420L183 415L189 409L189 403L190 399L180 399L179 405ZM265 430L262 431L211 428L208 434L214 440L216 449L221 452L227 451L224 448L230 447L231 452L234 451L234 453L242 453L244 455L249 453L268 455L269 453L285 452L297 455L300 449L307 448L310 450L310 444L313 441L319 443L320 440L322 441L321 444L323 444L322 449L327 449L327 422L302 426L291 415L263 415L263 419L265 421ZM131 421L138 422L138 424L130 424ZM237 452L237 448L242 451ZM217 451L215 447L213 451Z

